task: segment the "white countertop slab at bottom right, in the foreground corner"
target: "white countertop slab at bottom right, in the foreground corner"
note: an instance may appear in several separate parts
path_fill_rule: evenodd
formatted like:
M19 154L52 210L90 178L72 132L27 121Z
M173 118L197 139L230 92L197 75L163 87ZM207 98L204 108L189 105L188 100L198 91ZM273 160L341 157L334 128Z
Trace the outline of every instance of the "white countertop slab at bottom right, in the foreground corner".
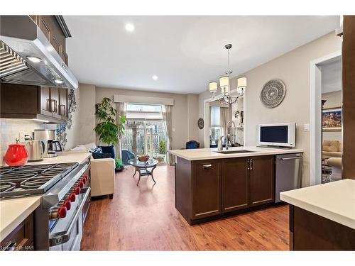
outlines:
M280 199L355 229L354 179L281 192Z

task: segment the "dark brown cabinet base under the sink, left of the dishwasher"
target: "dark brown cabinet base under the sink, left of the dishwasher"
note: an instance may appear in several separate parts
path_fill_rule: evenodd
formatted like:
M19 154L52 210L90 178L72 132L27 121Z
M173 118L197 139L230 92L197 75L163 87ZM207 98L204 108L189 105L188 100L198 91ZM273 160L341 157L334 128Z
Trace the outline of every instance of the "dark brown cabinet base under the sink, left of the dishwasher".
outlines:
M249 211L274 201L274 156L177 158L175 207L190 223Z

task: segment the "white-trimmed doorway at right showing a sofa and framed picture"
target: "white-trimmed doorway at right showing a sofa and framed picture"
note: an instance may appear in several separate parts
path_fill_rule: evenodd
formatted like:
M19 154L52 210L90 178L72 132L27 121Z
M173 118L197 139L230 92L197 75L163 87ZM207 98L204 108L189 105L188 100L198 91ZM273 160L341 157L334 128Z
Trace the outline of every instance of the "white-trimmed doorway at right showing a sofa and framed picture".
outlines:
M339 178L339 161L341 169L342 160L341 58L342 52L338 51L310 62L310 185Z

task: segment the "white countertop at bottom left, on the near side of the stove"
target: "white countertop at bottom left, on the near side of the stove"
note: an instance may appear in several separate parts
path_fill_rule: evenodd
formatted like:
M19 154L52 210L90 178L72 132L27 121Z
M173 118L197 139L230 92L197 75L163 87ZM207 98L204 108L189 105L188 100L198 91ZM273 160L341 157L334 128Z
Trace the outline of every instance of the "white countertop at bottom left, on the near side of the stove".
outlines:
M41 196L27 196L0 201L0 241L40 206L40 199Z

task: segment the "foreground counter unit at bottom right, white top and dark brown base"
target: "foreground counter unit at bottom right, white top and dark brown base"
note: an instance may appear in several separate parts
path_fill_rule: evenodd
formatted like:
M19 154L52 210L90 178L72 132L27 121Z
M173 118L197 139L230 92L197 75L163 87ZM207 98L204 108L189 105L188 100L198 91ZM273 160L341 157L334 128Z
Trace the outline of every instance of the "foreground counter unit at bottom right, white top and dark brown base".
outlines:
M355 180L280 193L290 204L290 250L355 250Z

